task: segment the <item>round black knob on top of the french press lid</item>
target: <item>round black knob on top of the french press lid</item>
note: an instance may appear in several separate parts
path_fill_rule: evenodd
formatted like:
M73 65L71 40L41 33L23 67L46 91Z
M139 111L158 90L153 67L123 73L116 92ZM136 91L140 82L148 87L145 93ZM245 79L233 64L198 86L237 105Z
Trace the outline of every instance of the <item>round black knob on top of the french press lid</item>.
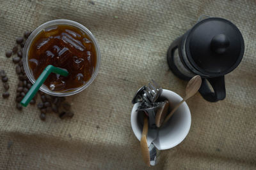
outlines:
M225 53L229 46L229 39L225 34L218 34L214 36L211 40L211 49L212 51L221 54Z

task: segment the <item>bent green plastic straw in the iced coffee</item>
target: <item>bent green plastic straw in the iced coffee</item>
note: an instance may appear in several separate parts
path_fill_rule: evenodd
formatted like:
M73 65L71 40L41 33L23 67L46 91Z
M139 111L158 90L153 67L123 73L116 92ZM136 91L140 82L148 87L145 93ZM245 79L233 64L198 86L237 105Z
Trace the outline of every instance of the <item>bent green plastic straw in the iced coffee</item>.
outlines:
M51 73L61 74L61 76L67 76L68 75L68 71L66 71L65 69L61 69L59 67L54 67L52 65L49 65L49 66L45 67L44 71L40 74L38 79L35 81L34 85L29 89L26 96L24 96L24 98L20 102L20 104L22 106L24 106L24 107L28 106L31 99L33 99L33 97L36 95L36 92L39 90L41 85L44 83L46 78Z

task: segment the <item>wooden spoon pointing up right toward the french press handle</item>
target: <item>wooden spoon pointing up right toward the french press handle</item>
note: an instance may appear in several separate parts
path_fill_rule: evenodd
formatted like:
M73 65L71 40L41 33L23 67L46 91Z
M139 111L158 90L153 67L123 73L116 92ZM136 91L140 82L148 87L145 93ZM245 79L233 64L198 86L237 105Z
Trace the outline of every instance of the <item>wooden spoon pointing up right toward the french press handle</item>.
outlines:
M188 85L186 87L186 96L180 103L169 113L169 115L164 119L163 124L165 124L170 117L172 117L173 113L179 108L179 106L184 103L184 101L188 100L190 97L194 96L196 92L200 89L202 83L202 79L200 76L196 75L191 80L189 80Z

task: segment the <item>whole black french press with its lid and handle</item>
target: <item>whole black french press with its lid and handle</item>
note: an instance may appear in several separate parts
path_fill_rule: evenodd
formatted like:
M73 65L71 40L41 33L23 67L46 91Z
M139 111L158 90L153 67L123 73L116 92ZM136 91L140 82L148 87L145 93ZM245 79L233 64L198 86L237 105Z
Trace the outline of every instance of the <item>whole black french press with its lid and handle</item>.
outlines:
M224 18L209 17L173 41L167 60L173 74L182 80L200 75L200 94L216 102L225 99L224 75L239 65L243 54L244 40L236 25Z

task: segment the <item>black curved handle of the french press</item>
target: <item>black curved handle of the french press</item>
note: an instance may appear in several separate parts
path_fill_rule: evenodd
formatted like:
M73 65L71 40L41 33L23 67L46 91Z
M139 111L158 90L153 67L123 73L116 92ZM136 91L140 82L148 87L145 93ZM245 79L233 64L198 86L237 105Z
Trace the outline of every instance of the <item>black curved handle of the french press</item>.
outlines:
M212 90L210 89L207 81L211 84ZM205 100L210 102L216 102L225 99L226 89L225 89L225 78L224 76L219 76L215 78L202 78L202 85L199 89L200 94Z

